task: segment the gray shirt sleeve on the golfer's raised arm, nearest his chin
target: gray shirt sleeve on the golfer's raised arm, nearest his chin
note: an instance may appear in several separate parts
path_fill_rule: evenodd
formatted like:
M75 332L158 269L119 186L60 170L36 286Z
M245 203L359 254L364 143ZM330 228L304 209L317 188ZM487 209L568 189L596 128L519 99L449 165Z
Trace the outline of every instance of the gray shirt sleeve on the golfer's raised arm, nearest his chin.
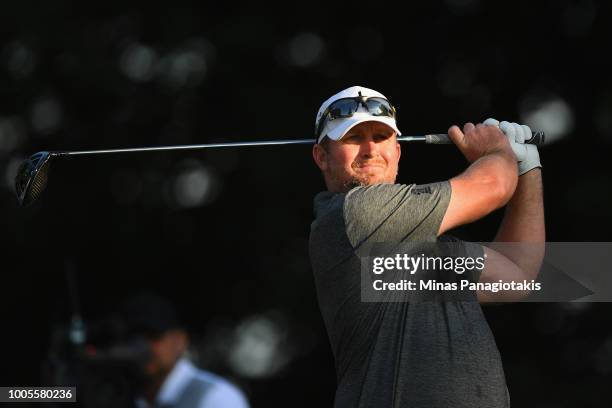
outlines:
M366 242L435 241L450 194L448 181L357 187L344 201L348 239L355 249Z

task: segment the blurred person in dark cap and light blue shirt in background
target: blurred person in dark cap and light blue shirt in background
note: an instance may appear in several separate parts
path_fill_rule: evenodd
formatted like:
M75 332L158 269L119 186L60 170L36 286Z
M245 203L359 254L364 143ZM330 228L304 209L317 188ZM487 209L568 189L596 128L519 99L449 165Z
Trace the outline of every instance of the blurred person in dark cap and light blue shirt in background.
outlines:
M189 361L189 336L167 299L137 294L124 303L121 315L130 335L146 339L149 348L150 357L138 376L136 407L249 407L238 387Z

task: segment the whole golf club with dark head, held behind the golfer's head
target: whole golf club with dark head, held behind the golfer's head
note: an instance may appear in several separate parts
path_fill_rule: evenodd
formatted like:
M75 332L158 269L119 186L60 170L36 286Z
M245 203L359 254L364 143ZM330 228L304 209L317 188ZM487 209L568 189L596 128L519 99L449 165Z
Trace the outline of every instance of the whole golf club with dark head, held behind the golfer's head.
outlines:
M532 138L525 143L541 145L544 143L544 132L533 132ZM449 144L452 141L447 134L429 134L421 136L400 136L400 142L420 142L428 144ZM179 146L160 146L160 147L137 147L129 149L109 149L109 150L84 150L84 151L51 151L38 152L25 160L17 171L15 177L15 191L21 206L28 206L40 197L47 185L49 176L49 165L51 160L56 157L65 156L85 156L107 153L136 153L136 152L155 152L171 150L197 150L221 147L243 147L243 146L272 146L272 145L293 145L293 144L314 144L314 139L292 139L292 140L268 140L256 142L230 142L230 143L208 143L198 145L179 145Z

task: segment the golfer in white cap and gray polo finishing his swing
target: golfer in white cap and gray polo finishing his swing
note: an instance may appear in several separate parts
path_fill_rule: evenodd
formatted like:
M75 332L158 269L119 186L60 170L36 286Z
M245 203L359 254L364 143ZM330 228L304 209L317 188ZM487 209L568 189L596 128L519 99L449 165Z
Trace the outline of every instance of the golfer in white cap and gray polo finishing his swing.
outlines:
M395 184L401 133L395 109L379 92L359 86L339 92L321 105L315 127L312 154L327 191L314 200L310 258L335 358L335 407L508 407L499 351L480 304L363 302L356 252L374 242L436 242L507 205L495 242L482 249L487 262L477 279L534 279L544 210L537 147L525 144L531 130L493 119L452 126L448 135L468 168L417 186ZM500 242L535 249L508 250ZM500 302L524 294L474 296Z

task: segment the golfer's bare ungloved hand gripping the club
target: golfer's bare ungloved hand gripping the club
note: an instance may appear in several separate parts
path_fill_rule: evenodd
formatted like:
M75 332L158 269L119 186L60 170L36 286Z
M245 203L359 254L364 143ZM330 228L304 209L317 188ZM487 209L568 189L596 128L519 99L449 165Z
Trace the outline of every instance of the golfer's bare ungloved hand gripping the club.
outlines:
M509 151L511 147L509 138L504 137L498 127L485 124L474 126L466 123L463 132L458 126L453 126L448 130L448 136L470 163L494 152Z

